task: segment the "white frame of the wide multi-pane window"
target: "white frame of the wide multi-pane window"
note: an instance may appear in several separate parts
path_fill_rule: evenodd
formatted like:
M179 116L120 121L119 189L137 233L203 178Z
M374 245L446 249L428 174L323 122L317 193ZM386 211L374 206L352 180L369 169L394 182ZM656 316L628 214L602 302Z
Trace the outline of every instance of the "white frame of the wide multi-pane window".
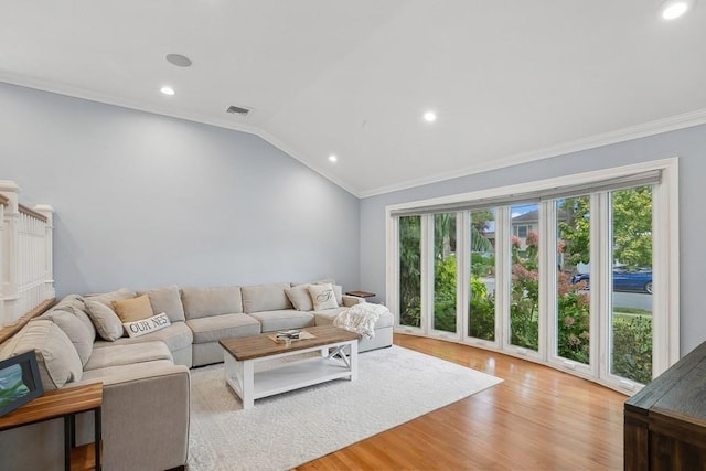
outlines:
M651 162L566 175L561 178L547 179L547 180L542 180L536 182L527 182L527 183L522 183L517 185L502 186L496 189L482 190L477 192L442 196L442 197L430 199L430 200L415 201L415 202L387 206L385 208L385 216L387 222L387 225L386 225L386 238L387 238L386 303L387 306L393 308L398 306L397 303L398 301L397 300L397 297L398 297L397 281L399 276L398 259L397 259L398 257L397 255L398 254L398 235L397 234L398 233L397 233L397 224L395 221L396 218L392 214L393 212L399 211L399 210L424 208L425 206L438 206L443 204L457 204L457 203L463 203L463 202L483 201L488 199L498 199L498 197L503 197L503 196L513 195L513 194L528 193L533 191L556 190L558 193L563 188L569 188L569 186L580 185L580 184L590 185L591 183L596 183L598 185L600 184L601 181L606 181L609 179L628 176L631 174L638 174L641 172L655 171L655 170L661 171L661 183L659 185L653 186L653 195L652 195L653 196L653 231L654 231L653 233L653 272L654 272L654 285L661 288L655 289L653 293L652 364L653 364L653 376L660 375L662 372L667 370L671 365L676 363L680 358L678 158L676 157L670 158L670 159L651 161ZM599 204L607 206L607 202L599 202ZM547 211L547 205L544 203L541 204L541 212L542 211L545 211L545 212ZM605 207L603 211L607 211L607 207ZM462 227L466 227L467 221L464 220L464 217L466 216L459 217L459 223L460 222L463 222L463 223L462 224L457 223L457 233L459 232L459 225L461 225ZM502 217L502 214L496 214L496 221L499 223L501 221L501 217ZM425 217L422 216L422 220ZM549 218L541 217L541 222L544 221L544 223L541 223L541 225L543 224L544 226L541 226L538 228L539 237L541 237L539 240L541 240L541 244L543 244L543 247L541 247L541 250L543 250L543 253L545 254L556 251L556 250L552 250L552 251L548 250L548 246L553 244L550 235L553 231L554 232L556 231L547 227L549 225L548 220L553 220L553 217L549 217ZM593 222L591 221L591 238L599 237L600 239L600 234L601 232L605 234L605 229L606 229L605 227L597 227L597 224L593 224ZM425 223L422 222L422 232L424 231L425 231ZM462 233L463 231L467 231L467 229L463 228L461 231L459 240L466 240L464 238L461 238L461 237L466 237L466 234ZM501 231L505 231L510 234L512 228L509 226L503 227L503 224L496 224L495 232L496 232L498 242L502 240L502 237L500 237ZM606 240L601 240L600 244L606 244L606 243L607 243ZM426 257L427 254L425 254L424 245L425 244L422 244L422 260L428 258ZM457 251L463 253L466 250L457 250ZM503 258L501 256L501 253L505 253L505 251L506 250L496 250L496 254L495 254L495 257L498 260L496 265L499 268L499 270L496 271L498 280L505 279L500 277L501 275L500 271L502 271L503 269L506 269L503 267L507 265L506 259L504 260L500 259L500 258ZM591 253L591 260L596 261L595 264L591 264L592 265L591 270L598 270L602 268L602 267L596 267L596 265L598 264L610 264L610 260L601 259L601 256L605 256L602 254L607 254L608 250L601 249L599 251L600 251L599 254ZM552 267L550 263L555 263L555 261L556 261L555 257L541 256L541 264L542 264L541 270L549 269L549 272L555 272L554 270L550 270L550 267ZM458 278L457 279L459 280L459 283L462 282L463 286L466 286L467 285L466 281L468 281L467 280L468 275L466 274L466 271L468 271L469 263L470 260L468 256L463 255L458 257L458 265L457 265ZM431 267L431 272L432 272L432 267ZM425 277L428 277L428 276L429 276L428 261L427 261L426 272L425 272L425 267L422 261L422 280L427 279ZM422 286L424 285L425 283L422 281ZM495 338L496 340L500 341L500 345L498 345L498 342L488 342L488 341L479 342L478 340L474 341L472 339L468 339L466 335L466 332L467 332L466 314L468 311L468 307L467 307L468 295L463 295L463 292L467 290L468 289L464 288L463 290L461 290L461 292L457 297L457 306L459 307L457 323L461 324L457 329L458 339L447 339L447 340L456 340L459 342L471 343L475 346L484 347L489 350L499 350L505 354L510 354L513 356L521 356L526 360L543 363L543 364L556 367L558 370L567 371L568 373L587 377L591 381L596 381L598 383L601 383L606 386L621 390L627 394L633 394L640 389L640 385L635 383L625 381L624 378L617 378L614 376L609 375L606 371L606 361L600 362L602 366L600 368L601 371L598 373L595 371L595 367L591 367L589 368L589 371L586 371L586 368L576 367L576 365L567 365L563 361L553 361L556 358L552 358L552 355L549 354L550 353L549 350L553 347L552 346L553 339L548 333L549 332L548 323L550 322L550 320L546 312L544 312L543 314L544 317L541 318L541 320L544 319L544 327L542 325L542 322L541 322L538 355L535 356L535 355L525 354L526 352L516 352L516 351L513 352L513 349L509 347L507 345L509 339L510 339L509 325L507 325L509 322L505 322L504 320L499 319L504 317L504 312L506 311L506 303L509 301L506 299L507 295L501 296L501 292L509 290L509 287L505 287L505 289L501 289L501 287L496 286L496 289L495 289L496 291L496 315L495 315L496 335ZM547 301L547 297L549 296L549 292L550 292L549 286L546 286L544 288L544 292L541 291L541 295L539 295L541 306L545 306L545 307L547 306L546 301ZM597 312L600 309L608 309L609 300L598 299L598 292L599 290L591 290L591 295L590 295L591 296L591 300L590 300L591 334L595 332L595 329L600 329L601 335L598 335L600 338L599 342L591 342L591 358L597 358L598 355L600 355L600 352L606 351L605 342L608 341L608 336L606 335L606 330L609 329L609 327L606 325L605 320L602 320L597 314ZM609 290L606 287L606 289L600 290L600 292L605 293L603 295L603 298L605 298L606 296L608 296L607 293L609 292ZM425 298L427 299L425 300ZM542 299L544 299L545 302L542 302ZM428 293L427 296L425 296L425 293L422 292L422 301L421 301L422 327L425 325L424 313L430 312L429 307L425 306L425 303L428 304L430 300L428 299ZM421 335L429 334L430 331L424 328L414 329L414 328L399 325L399 315L397 312L394 312L394 314L396 317L396 323L395 323L396 332L414 333L414 334L421 334ZM498 333L500 331L502 331L502 335L499 339ZM593 339L595 336L591 335L591 338Z

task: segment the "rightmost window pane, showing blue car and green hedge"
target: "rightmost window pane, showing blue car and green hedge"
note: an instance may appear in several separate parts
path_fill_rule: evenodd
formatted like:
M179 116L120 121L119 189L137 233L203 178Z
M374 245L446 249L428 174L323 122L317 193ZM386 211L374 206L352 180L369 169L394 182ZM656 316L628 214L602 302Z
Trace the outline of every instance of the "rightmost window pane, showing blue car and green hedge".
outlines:
M652 188L611 193L611 373L652 379Z

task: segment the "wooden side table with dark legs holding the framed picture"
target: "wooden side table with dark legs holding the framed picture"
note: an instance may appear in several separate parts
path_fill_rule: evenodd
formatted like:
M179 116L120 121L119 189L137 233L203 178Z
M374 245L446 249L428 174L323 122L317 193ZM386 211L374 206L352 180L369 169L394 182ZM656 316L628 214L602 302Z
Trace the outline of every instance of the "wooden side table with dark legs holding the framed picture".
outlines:
M0 417L0 431L31 424L64 419L64 469L71 470L71 449L75 443L75 416L93 410L95 418L95 467L100 470L100 433L103 411L103 383L54 389Z

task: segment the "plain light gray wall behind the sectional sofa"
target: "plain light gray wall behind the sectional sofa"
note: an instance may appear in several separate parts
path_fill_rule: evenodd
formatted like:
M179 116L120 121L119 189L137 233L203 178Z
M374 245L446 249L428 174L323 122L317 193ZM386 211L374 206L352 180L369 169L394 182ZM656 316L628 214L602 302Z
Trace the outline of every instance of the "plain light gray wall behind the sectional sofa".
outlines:
M0 179L56 210L58 296L357 288L359 200L253 135L0 83Z

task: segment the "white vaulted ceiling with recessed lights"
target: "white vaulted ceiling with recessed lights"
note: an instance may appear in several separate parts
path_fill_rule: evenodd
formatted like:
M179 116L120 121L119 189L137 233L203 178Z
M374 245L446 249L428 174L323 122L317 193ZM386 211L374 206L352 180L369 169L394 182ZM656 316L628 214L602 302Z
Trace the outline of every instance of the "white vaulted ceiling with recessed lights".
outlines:
M253 132L368 196L706 122L706 2L660 3L0 0L0 81Z

